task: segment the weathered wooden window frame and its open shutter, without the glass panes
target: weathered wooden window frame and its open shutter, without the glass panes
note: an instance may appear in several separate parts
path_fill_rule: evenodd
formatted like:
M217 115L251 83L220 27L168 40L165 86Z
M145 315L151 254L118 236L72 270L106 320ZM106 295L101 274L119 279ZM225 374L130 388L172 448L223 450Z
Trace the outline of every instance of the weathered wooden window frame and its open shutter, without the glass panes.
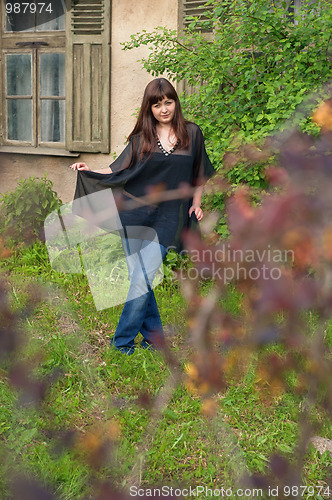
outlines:
M24 41L44 40L49 49L55 49L54 52L63 49L66 54L64 147L53 142L50 148L23 146L19 141L15 141L15 145L3 145L5 115L0 105L0 152L59 156L110 153L111 3L110 0L65 0L65 31L34 32L5 32L5 7L0 4L0 70L3 50L17 49L22 33ZM82 57L78 60L80 51ZM3 98L2 80L0 78L0 96ZM82 129L81 134L77 133L78 128Z

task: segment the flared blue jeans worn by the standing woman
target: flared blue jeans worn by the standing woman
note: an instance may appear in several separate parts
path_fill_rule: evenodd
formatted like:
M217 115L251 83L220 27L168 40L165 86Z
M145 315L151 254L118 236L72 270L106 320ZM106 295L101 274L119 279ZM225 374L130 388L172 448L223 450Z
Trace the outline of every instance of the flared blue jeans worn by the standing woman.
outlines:
M164 334L152 282L167 249L155 241L126 238L123 240L130 287L126 303L111 345L132 354L134 339L143 335L142 347L163 342Z

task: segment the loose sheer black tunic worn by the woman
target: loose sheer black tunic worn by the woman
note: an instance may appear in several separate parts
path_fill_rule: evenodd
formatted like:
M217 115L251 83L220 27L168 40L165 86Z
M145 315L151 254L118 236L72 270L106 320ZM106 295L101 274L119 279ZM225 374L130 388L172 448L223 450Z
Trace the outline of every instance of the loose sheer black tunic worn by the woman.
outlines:
M189 225L192 199L178 198L153 205L140 204L139 199L151 188L169 192L185 185L202 185L215 173L200 128L188 122L187 130L190 139L187 149L175 149L166 156L156 145L154 151L142 160L139 157L140 137L132 137L110 165L112 173L78 172L75 199L102 189L120 188L123 199L137 200L134 209L120 211L122 226L153 228L161 245L179 251L182 248L181 233Z

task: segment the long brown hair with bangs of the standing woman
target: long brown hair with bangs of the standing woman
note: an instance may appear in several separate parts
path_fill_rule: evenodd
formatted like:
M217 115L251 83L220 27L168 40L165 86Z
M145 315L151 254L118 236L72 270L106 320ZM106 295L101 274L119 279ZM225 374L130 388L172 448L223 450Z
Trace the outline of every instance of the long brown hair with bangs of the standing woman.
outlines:
M140 148L140 159L146 153L151 153L156 144L156 125L158 121L152 114L151 106L162 99L173 99L175 101L175 113L172 128L178 139L178 148L186 149L189 146L189 136L186 128L186 120L183 117L179 97L173 85L166 78L155 78L145 88L141 109L136 125L128 136L141 134L142 145Z

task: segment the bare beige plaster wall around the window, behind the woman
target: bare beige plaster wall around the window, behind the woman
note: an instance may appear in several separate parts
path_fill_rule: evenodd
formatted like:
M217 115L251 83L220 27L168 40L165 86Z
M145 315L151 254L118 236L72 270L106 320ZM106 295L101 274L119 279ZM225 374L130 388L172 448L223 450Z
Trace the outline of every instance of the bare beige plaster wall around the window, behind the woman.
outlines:
M147 55L146 47L123 51L121 42L143 29L157 26L176 28L178 0L113 0L111 40L111 155L82 153L79 158L0 153L0 193L14 189L17 181L47 173L54 189L64 201L72 200L75 173L68 168L73 162L84 161L91 168L101 169L119 154L126 136L131 132L146 84L152 79L138 59Z

